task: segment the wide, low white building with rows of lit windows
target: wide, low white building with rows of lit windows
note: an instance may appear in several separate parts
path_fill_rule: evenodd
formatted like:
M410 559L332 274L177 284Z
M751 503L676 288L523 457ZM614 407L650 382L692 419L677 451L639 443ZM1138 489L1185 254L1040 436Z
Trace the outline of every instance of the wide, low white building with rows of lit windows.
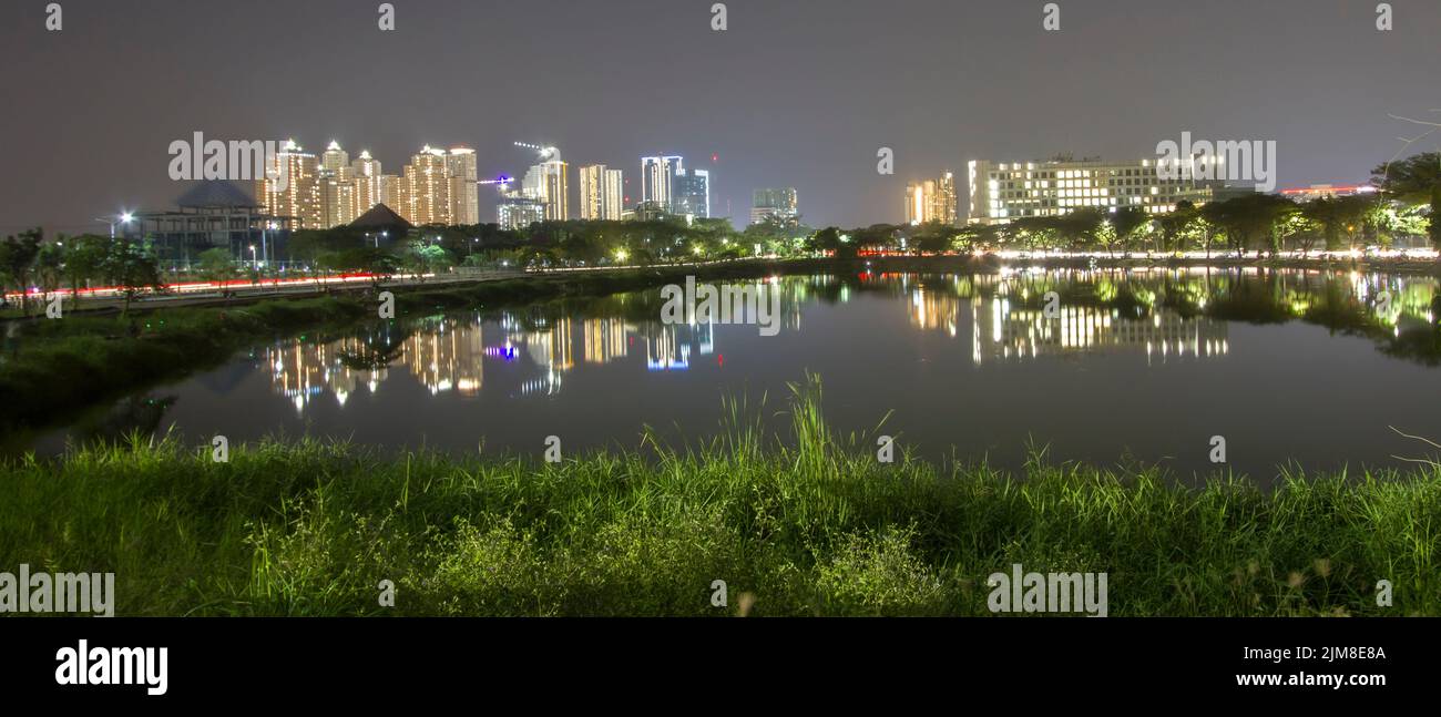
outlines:
M1176 210L1182 200L1200 206L1213 181L1189 173L1161 179L1156 160L1102 161L1058 157L1048 161L970 163L970 223L1004 225L1032 216L1061 216L1081 207L1114 212L1141 207L1151 215Z

